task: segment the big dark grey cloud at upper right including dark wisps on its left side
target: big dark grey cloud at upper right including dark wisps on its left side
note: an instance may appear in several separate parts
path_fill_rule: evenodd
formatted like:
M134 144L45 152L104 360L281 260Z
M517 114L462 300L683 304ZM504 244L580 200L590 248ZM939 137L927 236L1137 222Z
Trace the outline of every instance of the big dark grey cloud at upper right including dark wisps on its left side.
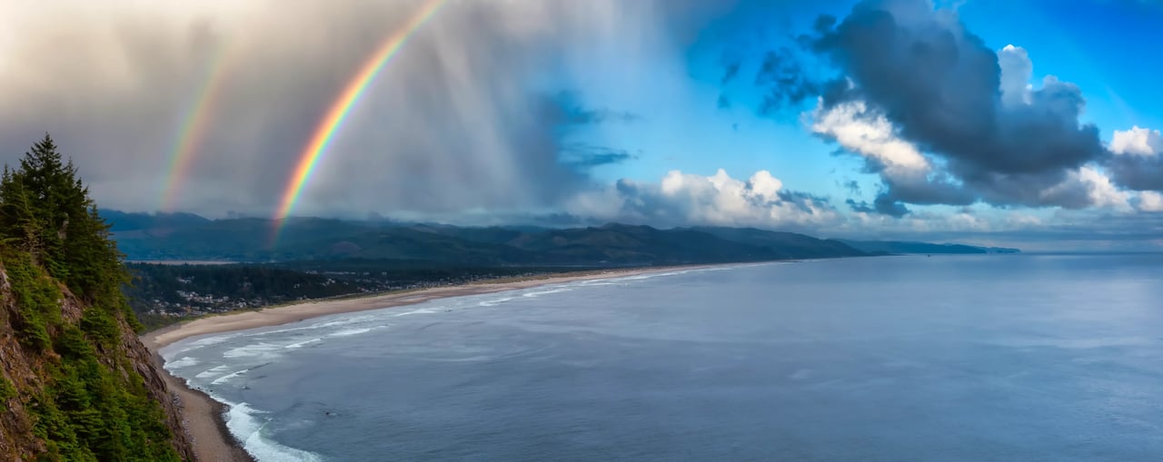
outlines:
M812 30L798 38L801 49L840 74L813 78L802 64L811 59L792 48L766 52L756 78L764 93L758 113L813 96L825 111L859 102L866 117L891 122L894 137L941 159L935 179L902 180L869 167L884 179L882 203L1090 204L1084 188L1047 190L1105 161L1099 130L1079 121L1085 99L1076 85L1048 77L1026 88L1023 50L1006 50L1014 52L999 64L998 52L954 10L927 0L862 1L841 20L819 16Z

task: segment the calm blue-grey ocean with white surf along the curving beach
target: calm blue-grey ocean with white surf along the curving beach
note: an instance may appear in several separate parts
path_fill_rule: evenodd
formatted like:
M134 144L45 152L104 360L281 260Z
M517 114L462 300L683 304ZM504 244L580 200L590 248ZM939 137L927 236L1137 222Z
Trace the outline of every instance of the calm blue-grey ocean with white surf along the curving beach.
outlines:
M1163 255L686 270L163 355L261 461L1163 460Z

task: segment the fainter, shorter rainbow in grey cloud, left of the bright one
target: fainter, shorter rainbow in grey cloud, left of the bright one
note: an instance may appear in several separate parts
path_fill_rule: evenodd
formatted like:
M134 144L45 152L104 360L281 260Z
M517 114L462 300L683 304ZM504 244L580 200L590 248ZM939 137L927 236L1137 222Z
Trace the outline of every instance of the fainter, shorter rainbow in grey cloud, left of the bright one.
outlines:
M198 144L206 131L209 114L214 111L214 102L217 100L219 89L222 88L224 67L227 62L227 44L223 43L215 51L206 66L202 77L202 85L194 94L194 99L186 110L186 117L181 121L178 130L178 139L170 151L169 166L162 186L162 197L159 209L171 211L174 196L181 189L181 185L188 176L190 161L198 151Z

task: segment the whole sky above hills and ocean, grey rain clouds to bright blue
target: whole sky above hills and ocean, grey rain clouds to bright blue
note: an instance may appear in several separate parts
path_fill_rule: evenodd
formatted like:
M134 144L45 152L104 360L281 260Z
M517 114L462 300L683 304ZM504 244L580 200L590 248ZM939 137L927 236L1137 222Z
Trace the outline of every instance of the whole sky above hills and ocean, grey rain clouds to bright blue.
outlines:
M291 215L1163 251L1154 0L0 12L0 160L48 132L107 209L276 217L329 108L404 34Z

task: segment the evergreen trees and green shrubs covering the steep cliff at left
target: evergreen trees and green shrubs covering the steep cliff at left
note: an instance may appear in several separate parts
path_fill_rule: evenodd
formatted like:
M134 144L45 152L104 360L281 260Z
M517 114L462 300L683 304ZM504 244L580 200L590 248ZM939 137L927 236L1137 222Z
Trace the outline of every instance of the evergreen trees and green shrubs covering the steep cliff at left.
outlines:
M12 286L13 329L41 387L24 390L40 461L177 461L158 403L123 352L140 329L128 281L72 161L45 136L0 180L0 262ZM76 304L76 310L64 304ZM78 316L79 315L79 316ZM0 397L14 397L5 380Z

